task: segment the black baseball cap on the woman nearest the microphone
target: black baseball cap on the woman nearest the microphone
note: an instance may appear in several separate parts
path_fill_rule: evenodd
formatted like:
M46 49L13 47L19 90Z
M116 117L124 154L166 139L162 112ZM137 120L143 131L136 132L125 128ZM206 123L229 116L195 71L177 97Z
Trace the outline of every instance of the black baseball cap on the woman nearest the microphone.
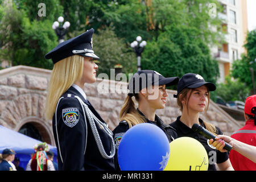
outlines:
M204 78L195 73L186 73L183 77L180 78L179 83L177 85L177 94L174 94L174 97L177 98L179 93L184 88L199 88L200 86L207 86L209 91L216 90L216 86L212 82L205 82Z

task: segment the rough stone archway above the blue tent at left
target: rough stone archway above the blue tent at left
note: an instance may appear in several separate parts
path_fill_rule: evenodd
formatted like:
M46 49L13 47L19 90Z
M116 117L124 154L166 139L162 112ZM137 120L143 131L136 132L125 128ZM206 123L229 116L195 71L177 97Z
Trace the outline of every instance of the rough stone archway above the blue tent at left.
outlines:
M51 131L52 123L44 118L45 101L46 95L34 92L24 92L13 100L6 100L2 103L5 107L0 124L19 131L23 125L31 123L39 131L44 142L55 145Z

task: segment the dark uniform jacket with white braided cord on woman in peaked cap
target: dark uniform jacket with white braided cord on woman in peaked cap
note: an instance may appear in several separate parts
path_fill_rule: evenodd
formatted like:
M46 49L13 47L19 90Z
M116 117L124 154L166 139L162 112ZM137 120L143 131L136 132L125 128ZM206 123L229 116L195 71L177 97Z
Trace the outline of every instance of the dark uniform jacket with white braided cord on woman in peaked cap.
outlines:
M79 101L74 96L79 96L92 113L104 122L90 102L85 100L79 91L72 86L61 96L64 98L60 100L57 106L57 122L55 121L55 114L52 119L59 170L114 170L114 159L102 158L87 117L86 141L84 114ZM95 124L106 154L110 155L109 136L97 123ZM87 142L86 148L85 142Z

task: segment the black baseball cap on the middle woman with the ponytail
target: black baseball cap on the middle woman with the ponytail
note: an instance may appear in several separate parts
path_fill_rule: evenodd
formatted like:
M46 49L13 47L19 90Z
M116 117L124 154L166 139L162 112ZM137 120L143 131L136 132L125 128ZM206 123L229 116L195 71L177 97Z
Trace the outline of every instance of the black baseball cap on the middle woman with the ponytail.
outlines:
M151 85L166 85L171 86L179 82L179 77L163 77L160 73L154 70L141 70L133 75L128 84L128 96L134 96L143 88Z

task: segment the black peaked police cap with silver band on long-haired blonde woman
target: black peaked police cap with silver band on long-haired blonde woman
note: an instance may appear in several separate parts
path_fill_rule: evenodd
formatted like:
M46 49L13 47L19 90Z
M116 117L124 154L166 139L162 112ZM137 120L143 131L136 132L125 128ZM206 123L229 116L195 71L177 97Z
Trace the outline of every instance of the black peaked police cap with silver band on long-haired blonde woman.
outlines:
M92 57L93 60L100 59L93 51L93 36L94 29L84 32L83 34L76 36L75 38L68 39L63 43L57 45L52 51L48 52L44 57L46 59L52 59L52 63L55 64L66 57L73 55Z

